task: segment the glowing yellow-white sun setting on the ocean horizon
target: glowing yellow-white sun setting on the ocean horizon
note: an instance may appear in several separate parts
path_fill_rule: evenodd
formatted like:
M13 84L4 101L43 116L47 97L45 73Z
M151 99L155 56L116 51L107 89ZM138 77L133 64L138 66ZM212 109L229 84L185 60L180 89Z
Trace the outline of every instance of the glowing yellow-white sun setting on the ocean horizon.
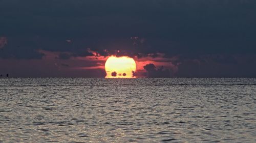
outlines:
M110 56L105 63L105 78L135 78L136 63L128 56Z

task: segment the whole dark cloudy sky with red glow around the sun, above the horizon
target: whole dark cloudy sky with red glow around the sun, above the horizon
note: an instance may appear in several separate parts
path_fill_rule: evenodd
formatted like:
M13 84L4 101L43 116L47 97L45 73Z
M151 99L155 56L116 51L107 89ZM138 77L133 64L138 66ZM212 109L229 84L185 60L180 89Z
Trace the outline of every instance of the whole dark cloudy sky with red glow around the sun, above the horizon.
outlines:
M0 0L0 74L104 77L111 55L136 77L256 77L254 0Z

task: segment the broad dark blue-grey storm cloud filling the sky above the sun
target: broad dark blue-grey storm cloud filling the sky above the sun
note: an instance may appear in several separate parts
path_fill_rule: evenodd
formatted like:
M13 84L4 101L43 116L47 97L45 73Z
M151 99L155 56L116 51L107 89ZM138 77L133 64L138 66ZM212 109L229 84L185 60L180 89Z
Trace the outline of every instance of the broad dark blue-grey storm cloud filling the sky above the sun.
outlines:
M121 54L131 55L138 52L256 53L255 1L8 0L0 3L1 34L51 37L49 46L42 47L49 50L61 50L53 41L71 37L87 39L84 46L99 52L124 50ZM131 37L141 40L134 41ZM128 39L131 43L127 43ZM131 45L137 49L130 51Z

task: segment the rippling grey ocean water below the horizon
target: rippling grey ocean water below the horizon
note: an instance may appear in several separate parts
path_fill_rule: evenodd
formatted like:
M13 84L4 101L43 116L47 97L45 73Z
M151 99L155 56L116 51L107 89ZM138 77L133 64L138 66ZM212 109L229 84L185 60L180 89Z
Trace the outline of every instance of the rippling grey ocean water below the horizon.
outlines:
M0 78L0 142L256 142L256 79Z

